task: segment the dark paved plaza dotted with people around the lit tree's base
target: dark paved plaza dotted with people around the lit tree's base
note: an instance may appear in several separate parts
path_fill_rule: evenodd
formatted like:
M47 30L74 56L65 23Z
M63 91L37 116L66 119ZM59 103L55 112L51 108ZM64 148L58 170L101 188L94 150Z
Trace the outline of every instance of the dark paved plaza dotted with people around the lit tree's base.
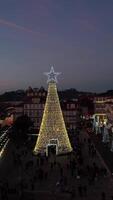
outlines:
M1 199L112 200L111 173L89 136L82 130L72 140L74 153L49 158L9 143L0 160Z

